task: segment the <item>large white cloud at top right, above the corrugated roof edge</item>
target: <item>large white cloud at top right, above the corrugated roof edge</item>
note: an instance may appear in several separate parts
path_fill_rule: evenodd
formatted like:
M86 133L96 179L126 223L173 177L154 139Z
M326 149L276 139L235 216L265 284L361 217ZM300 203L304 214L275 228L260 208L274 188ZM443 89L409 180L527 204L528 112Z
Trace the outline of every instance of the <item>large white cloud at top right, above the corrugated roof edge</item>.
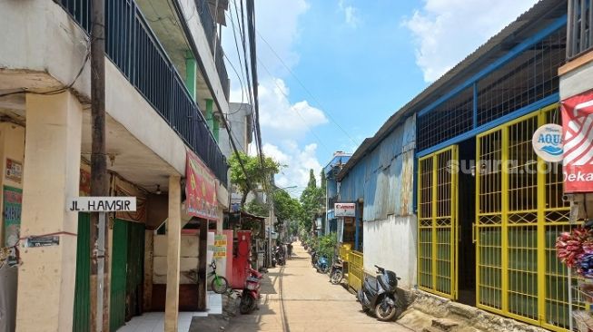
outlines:
M416 43L416 63L433 82L538 0L424 0L403 24Z

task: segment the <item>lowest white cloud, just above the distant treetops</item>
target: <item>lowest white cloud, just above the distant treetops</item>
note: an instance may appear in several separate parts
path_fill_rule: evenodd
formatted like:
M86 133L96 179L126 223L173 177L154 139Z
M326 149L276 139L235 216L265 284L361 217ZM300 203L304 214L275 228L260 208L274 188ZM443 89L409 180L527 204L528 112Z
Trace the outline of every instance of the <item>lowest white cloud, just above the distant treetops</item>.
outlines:
M321 164L315 157L317 144L311 143L300 148L296 142L284 142L282 147L265 143L262 149L266 156L272 157L283 165L288 165L276 175L275 181L281 188L297 186L296 190L289 190L293 196L301 195L301 191L307 187L311 169L315 172L319 183Z

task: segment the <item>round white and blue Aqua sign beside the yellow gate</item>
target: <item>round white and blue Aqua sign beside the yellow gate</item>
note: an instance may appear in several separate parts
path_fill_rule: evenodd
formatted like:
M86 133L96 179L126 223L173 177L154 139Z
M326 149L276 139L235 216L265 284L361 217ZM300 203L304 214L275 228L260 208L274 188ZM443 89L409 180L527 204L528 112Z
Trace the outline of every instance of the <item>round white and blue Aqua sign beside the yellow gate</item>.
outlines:
M544 124L533 133L531 144L533 151L544 161L562 161L562 126L554 123Z

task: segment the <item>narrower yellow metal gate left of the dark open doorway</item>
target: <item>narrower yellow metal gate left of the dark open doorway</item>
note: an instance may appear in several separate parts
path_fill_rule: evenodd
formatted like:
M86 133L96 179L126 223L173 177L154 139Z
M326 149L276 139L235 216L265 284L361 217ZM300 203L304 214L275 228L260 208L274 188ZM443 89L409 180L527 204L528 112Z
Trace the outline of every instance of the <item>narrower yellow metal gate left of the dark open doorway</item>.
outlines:
M418 282L445 298L457 298L457 165L457 145L419 161Z

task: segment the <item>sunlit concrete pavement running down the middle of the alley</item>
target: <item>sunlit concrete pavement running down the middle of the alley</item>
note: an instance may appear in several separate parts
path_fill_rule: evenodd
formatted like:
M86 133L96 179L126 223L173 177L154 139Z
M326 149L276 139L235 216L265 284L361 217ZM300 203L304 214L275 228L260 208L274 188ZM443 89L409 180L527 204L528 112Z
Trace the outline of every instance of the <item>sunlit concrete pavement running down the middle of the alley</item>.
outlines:
M260 309L232 317L227 331L412 331L364 314L349 291L311 268L311 257L296 242L294 251L286 266L265 275Z

